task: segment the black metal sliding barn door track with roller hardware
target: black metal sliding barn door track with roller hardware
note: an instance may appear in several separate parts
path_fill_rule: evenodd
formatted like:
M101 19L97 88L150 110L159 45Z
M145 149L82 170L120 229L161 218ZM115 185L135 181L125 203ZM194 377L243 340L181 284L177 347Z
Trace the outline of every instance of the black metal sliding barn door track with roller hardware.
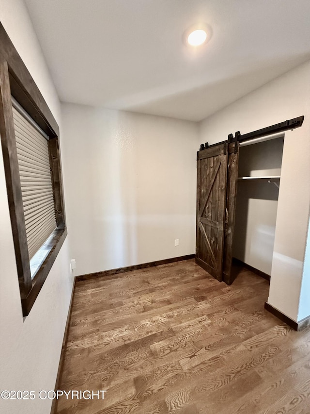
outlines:
M302 123L304 122L304 116L298 116L297 118L288 119L287 121L280 122L279 124L271 125L270 127L262 128L261 130L248 132L243 135L240 134L239 131L235 133L235 136L233 137L233 134L228 135L228 139L226 141L217 142L216 144L209 145L208 142L205 144L202 144L200 146L200 151L203 149L207 149L210 147L215 147L217 145L226 144L226 143L235 143L234 150L235 152L238 149L238 142L247 141L254 138L259 138L264 135L271 135L277 132L284 132L288 130L293 130L295 128L301 127Z

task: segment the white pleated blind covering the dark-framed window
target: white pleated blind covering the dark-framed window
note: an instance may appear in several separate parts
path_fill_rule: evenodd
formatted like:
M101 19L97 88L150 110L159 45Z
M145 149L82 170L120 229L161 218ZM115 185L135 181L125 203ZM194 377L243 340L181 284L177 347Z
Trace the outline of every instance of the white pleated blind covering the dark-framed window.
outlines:
M31 259L57 227L48 144L44 132L39 132L40 127L19 108L16 101L12 101L27 244Z

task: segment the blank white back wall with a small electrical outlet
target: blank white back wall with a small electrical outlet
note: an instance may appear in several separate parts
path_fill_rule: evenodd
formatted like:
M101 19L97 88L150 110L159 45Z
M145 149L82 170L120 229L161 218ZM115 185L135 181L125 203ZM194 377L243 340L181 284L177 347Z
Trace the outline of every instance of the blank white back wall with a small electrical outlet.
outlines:
M62 119L75 273L194 253L197 124L75 104Z

